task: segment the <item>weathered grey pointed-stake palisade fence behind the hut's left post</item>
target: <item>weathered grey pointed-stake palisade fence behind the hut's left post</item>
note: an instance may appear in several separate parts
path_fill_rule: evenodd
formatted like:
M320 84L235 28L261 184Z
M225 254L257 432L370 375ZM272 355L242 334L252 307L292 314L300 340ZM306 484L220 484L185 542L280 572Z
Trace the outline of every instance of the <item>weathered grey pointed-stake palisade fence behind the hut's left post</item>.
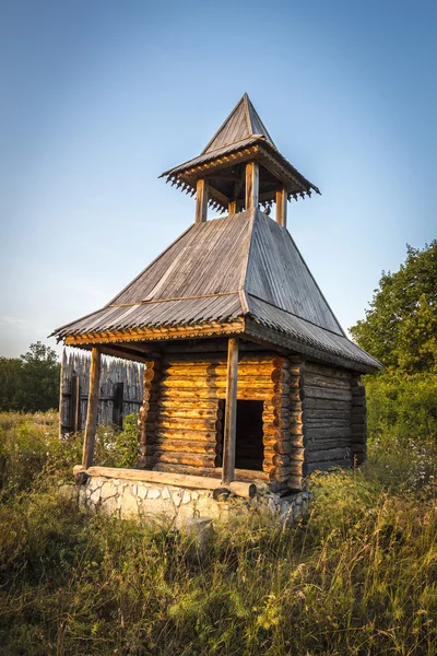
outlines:
M63 350L59 399L60 435L85 427L88 405L90 361L87 354ZM144 365L102 358L97 423L122 427L123 417L138 412L143 397Z

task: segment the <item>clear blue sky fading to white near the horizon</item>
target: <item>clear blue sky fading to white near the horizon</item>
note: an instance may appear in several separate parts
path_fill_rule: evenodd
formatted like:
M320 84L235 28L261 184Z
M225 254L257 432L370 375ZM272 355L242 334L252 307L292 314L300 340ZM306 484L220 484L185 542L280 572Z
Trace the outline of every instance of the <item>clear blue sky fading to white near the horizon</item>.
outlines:
M157 176L245 91L322 196L288 230L343 327L436 235L437 3L0 0L0 355L102 307L193 221Z

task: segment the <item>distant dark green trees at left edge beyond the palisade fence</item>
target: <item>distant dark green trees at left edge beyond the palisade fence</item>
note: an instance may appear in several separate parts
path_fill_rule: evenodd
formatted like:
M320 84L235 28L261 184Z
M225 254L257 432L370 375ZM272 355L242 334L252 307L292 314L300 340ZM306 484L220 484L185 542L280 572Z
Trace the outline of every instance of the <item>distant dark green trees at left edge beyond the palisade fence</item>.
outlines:
M58 408L59 373L56 352L42 342L21 358L0 358L0 411Z

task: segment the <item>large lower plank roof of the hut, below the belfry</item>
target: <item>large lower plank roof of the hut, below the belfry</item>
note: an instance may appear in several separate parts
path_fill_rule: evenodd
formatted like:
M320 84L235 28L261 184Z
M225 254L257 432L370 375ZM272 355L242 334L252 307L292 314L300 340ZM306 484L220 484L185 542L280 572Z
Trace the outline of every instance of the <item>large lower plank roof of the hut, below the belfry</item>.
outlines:
M347 339L288 232L256 209L191 225L105 307L54 335L92 338L238 318L283 336L298 352L333 356L355 371L380 367Z

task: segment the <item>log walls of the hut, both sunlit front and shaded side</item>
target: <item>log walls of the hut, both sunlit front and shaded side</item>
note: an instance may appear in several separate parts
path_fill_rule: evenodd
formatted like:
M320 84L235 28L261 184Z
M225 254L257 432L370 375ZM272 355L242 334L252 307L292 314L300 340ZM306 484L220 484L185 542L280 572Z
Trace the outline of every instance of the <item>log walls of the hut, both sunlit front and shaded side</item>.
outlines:
M222 459L225 398L224 355L156 354L144 371L140 466L211 475ZM303 477L315 470L365 459L366 405L359 376L305 362L300 355L243 353L237 398L263 402L267 480L298 489ZM246 447L248 470L250 457Z

